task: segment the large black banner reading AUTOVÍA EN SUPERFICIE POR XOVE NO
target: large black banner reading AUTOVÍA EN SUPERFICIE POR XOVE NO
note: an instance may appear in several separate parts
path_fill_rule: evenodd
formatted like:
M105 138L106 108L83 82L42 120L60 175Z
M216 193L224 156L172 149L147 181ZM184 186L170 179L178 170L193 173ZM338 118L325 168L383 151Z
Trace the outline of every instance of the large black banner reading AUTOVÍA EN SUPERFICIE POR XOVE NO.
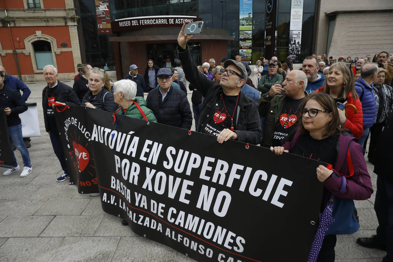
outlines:
M102 208L136 234L197 261L307 260L321 162L91 108L78 120L83 112Z

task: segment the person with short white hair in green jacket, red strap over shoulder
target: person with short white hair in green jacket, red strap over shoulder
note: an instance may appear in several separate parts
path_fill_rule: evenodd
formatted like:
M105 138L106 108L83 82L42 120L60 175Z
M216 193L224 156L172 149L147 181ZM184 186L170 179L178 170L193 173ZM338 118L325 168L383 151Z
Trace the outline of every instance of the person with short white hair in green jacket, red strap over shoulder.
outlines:
M146 115L147 121L157 123L157 119L153 112L147 108L146 101L143 97L136 96L136 83L122 79L113 84L115 92L115 103L120 106L116 114L144 119L143 114ZM142 114L143 112L143 114Z

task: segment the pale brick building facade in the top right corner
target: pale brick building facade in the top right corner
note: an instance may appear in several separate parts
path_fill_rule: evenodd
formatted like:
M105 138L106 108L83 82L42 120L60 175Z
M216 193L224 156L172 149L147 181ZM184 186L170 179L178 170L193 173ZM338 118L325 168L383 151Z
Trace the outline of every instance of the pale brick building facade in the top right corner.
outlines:
M317 10L316 54L354 59L373 57L380 51L393 53L393 1L320 0ZM334 16L334 30L327 50L329 17Z

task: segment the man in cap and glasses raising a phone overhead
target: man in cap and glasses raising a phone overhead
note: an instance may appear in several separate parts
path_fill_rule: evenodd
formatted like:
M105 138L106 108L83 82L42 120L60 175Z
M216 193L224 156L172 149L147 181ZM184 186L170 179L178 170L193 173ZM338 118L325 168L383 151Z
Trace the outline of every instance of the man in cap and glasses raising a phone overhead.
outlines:
M186 23L177 38L177 50L185 78L204 96L196 131L217 136L219 143L234 139L259 144L262 130L258 104L241 92L248 77L246 68L242 62L228 59L224 62L225 69L220 70L219 83L206 78L191 58L187 42L192 35L184 35Z

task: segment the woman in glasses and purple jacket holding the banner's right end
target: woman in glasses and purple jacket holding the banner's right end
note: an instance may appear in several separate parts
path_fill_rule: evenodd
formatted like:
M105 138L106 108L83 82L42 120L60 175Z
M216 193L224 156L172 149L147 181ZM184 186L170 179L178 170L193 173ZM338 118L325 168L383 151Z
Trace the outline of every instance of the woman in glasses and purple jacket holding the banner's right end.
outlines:
M319 227L308 261L334 262L336 235L359 229L353 200L366 200L373 187L358 139L340 128L334 99L326 93L313 93L299 105L302 121L282 147L271 147L275 154L290 152L329 163L316 168L316 179L323 183ZM353 141L355 140L355 141Z

